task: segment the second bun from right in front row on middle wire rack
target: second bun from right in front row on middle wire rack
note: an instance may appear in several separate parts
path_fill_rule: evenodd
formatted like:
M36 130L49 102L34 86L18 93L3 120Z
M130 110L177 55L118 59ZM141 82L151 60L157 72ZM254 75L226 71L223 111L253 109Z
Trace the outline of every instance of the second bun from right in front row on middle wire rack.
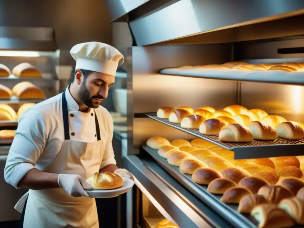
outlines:
M255 140L275 140L278 138L277 131L266 123L252 121L248 125L248 128L252 132Z

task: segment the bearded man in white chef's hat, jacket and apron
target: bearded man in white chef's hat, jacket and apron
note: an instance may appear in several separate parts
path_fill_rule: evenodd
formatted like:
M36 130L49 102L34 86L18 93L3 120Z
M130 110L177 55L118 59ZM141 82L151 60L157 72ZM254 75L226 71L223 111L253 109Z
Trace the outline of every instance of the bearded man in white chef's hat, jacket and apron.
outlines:
M22 212L19 227L99 227L85 180L98 171L133 178L116 166L113 120L100 106L123 55L99 42L77 44L71 55L71 84L22 114L9 150L5 181L29 189L15 206Z

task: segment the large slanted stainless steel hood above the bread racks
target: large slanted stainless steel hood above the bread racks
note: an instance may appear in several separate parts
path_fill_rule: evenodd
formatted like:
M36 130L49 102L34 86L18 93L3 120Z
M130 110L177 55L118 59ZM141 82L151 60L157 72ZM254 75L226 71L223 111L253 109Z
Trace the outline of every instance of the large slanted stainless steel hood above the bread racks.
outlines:
M137 45L303 14L302 0L180 0L130 22ZM241 12L241 13L235 13Z

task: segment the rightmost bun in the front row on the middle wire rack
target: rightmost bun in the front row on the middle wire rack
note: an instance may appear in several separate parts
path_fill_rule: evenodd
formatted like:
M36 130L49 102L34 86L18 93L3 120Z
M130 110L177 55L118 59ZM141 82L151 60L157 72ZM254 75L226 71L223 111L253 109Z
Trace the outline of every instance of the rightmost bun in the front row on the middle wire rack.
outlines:
M276 130L278 136L288 140L300 140L304 139L303 128L294 121L287 121L277 125Z

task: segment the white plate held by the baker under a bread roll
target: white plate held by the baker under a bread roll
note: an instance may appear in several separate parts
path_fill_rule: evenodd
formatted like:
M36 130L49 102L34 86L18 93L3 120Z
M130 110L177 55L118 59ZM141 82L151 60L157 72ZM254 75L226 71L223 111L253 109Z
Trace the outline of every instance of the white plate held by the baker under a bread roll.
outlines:
M123 193L128 192L134 185L134 181L129 178L123 177L123 186L110 190L85 190L92 198L113 198Z

